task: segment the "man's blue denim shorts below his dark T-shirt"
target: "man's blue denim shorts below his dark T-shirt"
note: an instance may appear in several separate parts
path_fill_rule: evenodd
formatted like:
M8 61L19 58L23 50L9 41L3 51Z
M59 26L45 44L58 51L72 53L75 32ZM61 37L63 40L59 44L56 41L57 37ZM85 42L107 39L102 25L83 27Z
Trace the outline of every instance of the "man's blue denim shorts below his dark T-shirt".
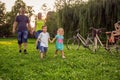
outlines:
M18 31L18 44L27 43L28 31Z

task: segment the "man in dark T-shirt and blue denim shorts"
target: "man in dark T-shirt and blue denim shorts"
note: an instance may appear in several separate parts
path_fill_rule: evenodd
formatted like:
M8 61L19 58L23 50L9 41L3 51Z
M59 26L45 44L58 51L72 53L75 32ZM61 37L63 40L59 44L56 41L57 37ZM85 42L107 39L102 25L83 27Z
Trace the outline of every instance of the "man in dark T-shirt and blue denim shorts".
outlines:
M22 43L24 43L24 53L27 53L27 39L28 39L28 29L30 27L30 21L27 16L25 16L25 8L20 8L20 14L16 17L12 32L15 33L16 26L18 25L18 47L19 52L22 52Z

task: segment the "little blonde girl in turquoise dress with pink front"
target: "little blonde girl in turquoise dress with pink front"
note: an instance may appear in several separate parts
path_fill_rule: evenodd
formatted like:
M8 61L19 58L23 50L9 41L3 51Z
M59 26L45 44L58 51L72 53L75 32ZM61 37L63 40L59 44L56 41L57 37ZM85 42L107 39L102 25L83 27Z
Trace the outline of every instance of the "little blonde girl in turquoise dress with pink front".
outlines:
M64 56L64 45L63 45L63 37L64 35L64 29L63 28L59 28L57 31L57 35L55 36L55 38L52 40L52 42L54 42L56 40L56 51L55 51L55 57L57 56L58 51L61 51L62 53L62 58L65 58Z

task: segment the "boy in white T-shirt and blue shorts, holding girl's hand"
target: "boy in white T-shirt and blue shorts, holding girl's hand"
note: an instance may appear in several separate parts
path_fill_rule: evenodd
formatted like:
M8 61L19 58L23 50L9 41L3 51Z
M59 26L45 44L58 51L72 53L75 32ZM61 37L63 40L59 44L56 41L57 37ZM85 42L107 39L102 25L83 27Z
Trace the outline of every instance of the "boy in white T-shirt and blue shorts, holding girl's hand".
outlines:
M40 41L40 58L43 59L43 57L46 55L47 49L48 49L48 41L51 42L49 33L47 32L47 26L42 26L42 31L37 40L36 45L38 45L38 41Z

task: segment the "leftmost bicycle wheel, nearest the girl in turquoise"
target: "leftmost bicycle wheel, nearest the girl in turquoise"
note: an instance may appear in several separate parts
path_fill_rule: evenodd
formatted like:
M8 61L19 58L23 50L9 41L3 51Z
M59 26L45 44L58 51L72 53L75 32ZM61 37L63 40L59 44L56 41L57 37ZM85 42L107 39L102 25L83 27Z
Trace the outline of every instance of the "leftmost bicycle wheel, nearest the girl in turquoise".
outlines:
M68 50L78 50L80 47L80 41L77 38L70 38L67 40Z

